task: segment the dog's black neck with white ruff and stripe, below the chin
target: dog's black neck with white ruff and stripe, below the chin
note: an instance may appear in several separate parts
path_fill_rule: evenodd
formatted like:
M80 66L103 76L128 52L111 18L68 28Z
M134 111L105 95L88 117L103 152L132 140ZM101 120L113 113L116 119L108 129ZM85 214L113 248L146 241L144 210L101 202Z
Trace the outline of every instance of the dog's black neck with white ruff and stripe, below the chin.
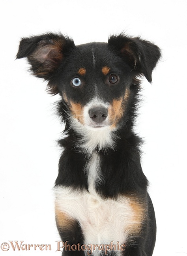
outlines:
M125 127L115 131L84 128L76 131L73 127L66 128L67 136L59 141L64 151L56 185L96 191L106 198L147 186L140 164L142 141L138 136ZM122 164L118 165L119 161ZM116 179L120 187L116 186Z

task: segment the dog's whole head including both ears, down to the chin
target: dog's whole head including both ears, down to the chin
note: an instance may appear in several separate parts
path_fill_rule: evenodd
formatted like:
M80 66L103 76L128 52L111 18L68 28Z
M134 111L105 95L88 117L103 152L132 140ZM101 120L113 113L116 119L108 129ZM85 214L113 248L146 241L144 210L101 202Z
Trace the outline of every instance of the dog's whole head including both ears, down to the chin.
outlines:
M70 125L92 130L120 127L137 77L151 73L159 48L139 38L111 36L108 43L75 46L62 35L47 34L21 41L17 58L28 57L32 72L60 93Z

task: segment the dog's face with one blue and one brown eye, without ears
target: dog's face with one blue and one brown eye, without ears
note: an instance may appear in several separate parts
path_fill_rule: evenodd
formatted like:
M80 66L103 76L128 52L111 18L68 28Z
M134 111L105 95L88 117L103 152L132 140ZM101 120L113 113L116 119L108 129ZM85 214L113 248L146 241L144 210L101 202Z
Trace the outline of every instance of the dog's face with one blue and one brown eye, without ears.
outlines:
M120 56L107 44L80 45L60 70L59 89L73 119L89 129L115 128L132 82Z

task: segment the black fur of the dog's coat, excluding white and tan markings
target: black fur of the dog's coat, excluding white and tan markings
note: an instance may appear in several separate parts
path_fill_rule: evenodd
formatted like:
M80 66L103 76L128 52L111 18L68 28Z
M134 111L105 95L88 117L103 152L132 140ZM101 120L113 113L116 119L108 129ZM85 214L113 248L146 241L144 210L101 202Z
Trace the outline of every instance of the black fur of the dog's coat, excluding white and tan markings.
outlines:
M96 65L91 59L94 52ZM128 91L128 100L123 100L123 115L112 130L115 138L113 148L95 147L93 152L101 159L100 171L103 179L95 183L95 190L103 199L117 200L119 195L133 196L144 205L146 211L141 235L134 235L128 241L124 256L151 256L155 245L156 222L153 205L147 192L148 181L142 172L140 163L141 139L134 134L133 124L139 102L140 77L144 75L151 82L151 74L161 57L160 49L151 42L139 37L130 38L123 34L110 36L108 43L88 43L75 46L73 40L62 34L45 34L31 38L23 38L17 58L27 57L34 75L48 81L48 91L59 93L61 100L57 103L58 114L65 122L66 136L59 140L64 149L59 161L59 173L55 186L62 185L73 189L88 190L88 177L84 168L90 160L82 147L83 135L73 128L69 112L71 104L84 107L94 94L94 86L98 85L99 96L103 102L112 104ZM108 84L108 75L101 72L107 66L112 74L118 74L116 85ZM72 86L72 79L77 77L79 68L84 67L86 75L79 75L82 85ZM58 227L62 240L69 243L84 243L84 234L80 223L71 230ZM117 255L112 252L111 255ZM63 255L84 255L80 252L64 252Z

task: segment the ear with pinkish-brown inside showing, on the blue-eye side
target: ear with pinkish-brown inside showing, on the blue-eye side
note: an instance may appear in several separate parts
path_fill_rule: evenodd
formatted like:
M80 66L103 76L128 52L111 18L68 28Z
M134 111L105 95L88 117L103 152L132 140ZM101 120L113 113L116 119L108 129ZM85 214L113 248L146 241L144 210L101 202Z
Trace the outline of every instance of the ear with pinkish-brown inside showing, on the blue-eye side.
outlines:
M32 74L49 81L48 91L57 94L58 89L52 83L52 77L70 48L75 48L73 40L62 34L49 33L22 38L17 58L27 57Z

